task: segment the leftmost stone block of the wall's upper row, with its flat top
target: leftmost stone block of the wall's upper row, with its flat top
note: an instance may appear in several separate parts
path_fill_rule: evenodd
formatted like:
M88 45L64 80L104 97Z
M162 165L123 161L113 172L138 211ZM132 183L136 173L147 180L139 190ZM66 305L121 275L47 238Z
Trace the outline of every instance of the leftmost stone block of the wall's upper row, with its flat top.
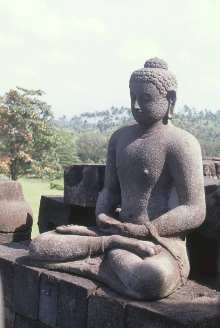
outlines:
M14 263L19 257L28 255L28 247L18 243L0 245L0 272L6 307L12 307Z

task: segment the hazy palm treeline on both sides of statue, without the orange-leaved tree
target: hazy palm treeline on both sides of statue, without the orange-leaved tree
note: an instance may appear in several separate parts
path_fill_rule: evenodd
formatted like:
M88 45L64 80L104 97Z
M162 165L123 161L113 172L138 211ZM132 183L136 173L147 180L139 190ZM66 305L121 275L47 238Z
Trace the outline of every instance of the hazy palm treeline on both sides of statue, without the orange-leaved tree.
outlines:
M53 120L53 126L62 131L64 137L59 151L62 168L74 162L105 162L111 134L132 121L131 109L124 107L86 112L70 120L66 116ZM202 155L220 156L220 111L198 113L194 108L184 106L174 114L172 123L198 139Z

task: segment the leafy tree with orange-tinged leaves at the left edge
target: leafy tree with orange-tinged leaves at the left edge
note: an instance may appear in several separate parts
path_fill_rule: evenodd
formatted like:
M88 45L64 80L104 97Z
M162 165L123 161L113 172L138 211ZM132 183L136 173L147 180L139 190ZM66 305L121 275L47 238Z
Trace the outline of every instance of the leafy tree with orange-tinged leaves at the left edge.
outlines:
M51 177L59 168L57 133L50 106L34 96L41 90L18 88L0 97L0 169L12 180L26 173Z

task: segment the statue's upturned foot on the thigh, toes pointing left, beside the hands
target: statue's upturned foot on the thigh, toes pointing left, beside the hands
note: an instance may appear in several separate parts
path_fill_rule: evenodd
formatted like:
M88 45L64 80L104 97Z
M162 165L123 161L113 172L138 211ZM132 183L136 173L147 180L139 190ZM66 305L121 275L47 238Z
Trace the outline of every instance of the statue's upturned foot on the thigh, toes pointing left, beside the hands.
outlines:
M84 227L78 226L77 224L70 224L67 226L61 226L56 228L56 233L64 235L79 235L79 236L106 236L103 234L98 227Z

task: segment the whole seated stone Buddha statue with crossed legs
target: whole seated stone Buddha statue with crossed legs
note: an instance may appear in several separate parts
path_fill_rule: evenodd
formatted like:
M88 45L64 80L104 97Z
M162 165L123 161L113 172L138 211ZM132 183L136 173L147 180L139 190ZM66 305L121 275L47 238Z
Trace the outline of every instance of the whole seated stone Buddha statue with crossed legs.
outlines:
M205 218L205 196L199 144L171 123L176 90L174 74L157 57L132 73L136 122L110 138L97 227L67 225L35 237L32 264L95 278L141 300L184 284L186 235Z

